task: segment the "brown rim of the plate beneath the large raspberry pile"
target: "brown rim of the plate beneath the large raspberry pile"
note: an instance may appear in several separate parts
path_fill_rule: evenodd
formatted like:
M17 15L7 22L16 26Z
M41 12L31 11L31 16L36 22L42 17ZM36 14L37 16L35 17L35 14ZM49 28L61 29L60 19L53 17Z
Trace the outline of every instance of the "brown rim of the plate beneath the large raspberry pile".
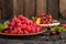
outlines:
M2 32L0 32L0 34L1 35L13 35L13 36L20 36L20 35L22 35L22 36L24 36L24 35L36 35L36 34L41 34L41 33L44 33L44 32L46 32L46 28L44 28L42 31L40 31L40 32L37 32L37 33L30 33L30 34L10 34L10 33L2 33Z

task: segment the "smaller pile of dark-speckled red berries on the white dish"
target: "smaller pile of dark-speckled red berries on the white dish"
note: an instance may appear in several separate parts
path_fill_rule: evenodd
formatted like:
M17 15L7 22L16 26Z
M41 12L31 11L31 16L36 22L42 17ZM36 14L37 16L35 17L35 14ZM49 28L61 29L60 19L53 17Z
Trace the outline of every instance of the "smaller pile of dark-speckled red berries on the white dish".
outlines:
M41 18L41 24L50 24L53 21L51 14L41 13L38 16Z

